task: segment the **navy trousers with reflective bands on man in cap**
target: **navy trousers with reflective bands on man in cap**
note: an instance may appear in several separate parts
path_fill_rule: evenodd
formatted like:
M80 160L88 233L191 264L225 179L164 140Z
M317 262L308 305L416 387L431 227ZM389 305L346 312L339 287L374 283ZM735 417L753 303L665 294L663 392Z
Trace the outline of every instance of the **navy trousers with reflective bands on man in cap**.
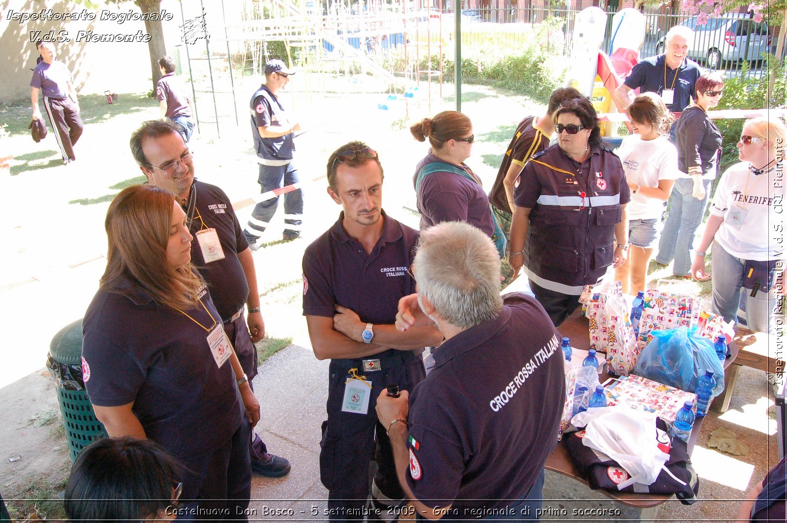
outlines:
M300 182L297 168L293 162L286 165L263 165L260 164L260 176L257 182L260 184L260 193L267 193L269 190L279 189L283 186L290 186ZM260 201L254 206L251 212L251 219L243 234L249 243L257 241L263 231L271 222L276 208L279 206L279 197L275 196L268 200ZM303 191L300 189L284 194L284 233L287 235L297 235L301 232L301 218L303 217Z

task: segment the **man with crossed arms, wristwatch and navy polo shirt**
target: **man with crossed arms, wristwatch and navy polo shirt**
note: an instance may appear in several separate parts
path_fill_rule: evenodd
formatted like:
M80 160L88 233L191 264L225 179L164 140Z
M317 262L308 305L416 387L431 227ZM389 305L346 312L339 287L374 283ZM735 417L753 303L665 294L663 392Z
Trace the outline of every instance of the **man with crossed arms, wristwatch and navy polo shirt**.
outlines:
M426 375L423 347L442 335L432 326L401 333L393 323L402 296L415 292L408 274L416 230L382 211L382 165L363 142L339 147L327 163L328 195L342 206L331 229L303 256L303 314L317 359L331 359L327 422L320 442L320 478L328 489L332 521L361 521L369 464L378 470L371 488L379 517L395 520L404 492L375 414L389 385L412 388ZM375 445L376 433L376 445Z

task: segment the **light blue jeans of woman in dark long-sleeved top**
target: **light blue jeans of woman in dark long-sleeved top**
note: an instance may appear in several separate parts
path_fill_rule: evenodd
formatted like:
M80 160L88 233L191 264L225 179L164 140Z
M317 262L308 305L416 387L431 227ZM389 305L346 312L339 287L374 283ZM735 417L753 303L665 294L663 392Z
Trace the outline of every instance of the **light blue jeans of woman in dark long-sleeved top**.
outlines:
M705 188L705 197L702 200L692 196L694 182L690 178L679 178L672 186L670 212L664 222L656 263L667 265L674 259L672 274L676 276L688 276L691 271L694 234L702 223L705 208L711 198L711 182L713 180L702 181Z

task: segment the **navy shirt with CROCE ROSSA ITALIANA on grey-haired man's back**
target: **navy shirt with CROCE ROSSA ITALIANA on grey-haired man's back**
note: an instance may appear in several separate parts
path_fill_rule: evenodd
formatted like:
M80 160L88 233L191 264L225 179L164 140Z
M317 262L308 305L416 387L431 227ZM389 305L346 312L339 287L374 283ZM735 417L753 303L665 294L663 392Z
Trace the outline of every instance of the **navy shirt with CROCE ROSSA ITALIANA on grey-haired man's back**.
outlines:
M557 444L560 334L538 301L515 293L433 355L410 396L407 483L427 506L451 504L446 520L478 519L469 510L526 494Z

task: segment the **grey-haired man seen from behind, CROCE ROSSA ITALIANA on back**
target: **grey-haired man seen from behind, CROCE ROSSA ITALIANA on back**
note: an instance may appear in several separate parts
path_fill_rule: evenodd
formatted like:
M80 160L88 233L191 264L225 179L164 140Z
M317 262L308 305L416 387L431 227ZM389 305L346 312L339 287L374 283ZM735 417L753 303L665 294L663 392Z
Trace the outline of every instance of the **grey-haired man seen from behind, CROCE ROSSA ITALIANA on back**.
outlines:
M565 383L560 334L534 298L500 296L492 241L460 222L423 231L405 333L436 323L445 341L412 396L382 391L377 414L411 500L402 512L445 521L537 519L557 444Z

